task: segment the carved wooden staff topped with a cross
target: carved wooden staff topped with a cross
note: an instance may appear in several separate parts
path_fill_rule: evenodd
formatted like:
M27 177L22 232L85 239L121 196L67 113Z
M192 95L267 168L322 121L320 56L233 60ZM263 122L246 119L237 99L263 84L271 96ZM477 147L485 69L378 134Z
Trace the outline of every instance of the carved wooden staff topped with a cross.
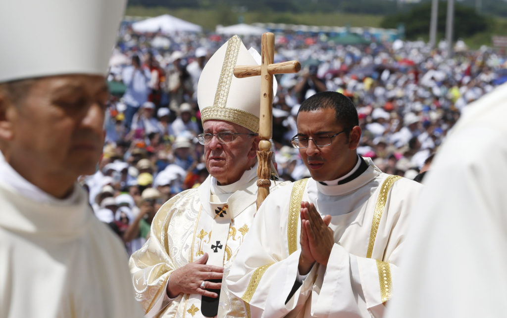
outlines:
M261 75L261 112L259 116L259 151L257 158L259 168L257 168L257 209L261 206L266 196L269 194L271 185L271 141L273 126L273 75L283 73L297 73L301 69L299 61L287 61L273 64L275 48L275 35L266 32L262 35L261 43L261 65L240 65L234 68L234 75L238 78Z

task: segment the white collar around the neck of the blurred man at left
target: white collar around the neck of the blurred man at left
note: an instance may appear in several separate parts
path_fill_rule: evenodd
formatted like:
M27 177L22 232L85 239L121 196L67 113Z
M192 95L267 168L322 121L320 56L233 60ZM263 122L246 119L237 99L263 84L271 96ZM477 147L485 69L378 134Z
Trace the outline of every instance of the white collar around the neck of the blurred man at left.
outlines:
M37 202L47 202L56 204L71 204L79 201L79 191L74 188L71 195L63 200L46 193L39 187L31 184L28 180L23 178L14 168L9 165L5 157L0 151L0 176L4 181L9 180L9 185L18 191L21 195L28 196ZM76 185L75 185L76 187Z

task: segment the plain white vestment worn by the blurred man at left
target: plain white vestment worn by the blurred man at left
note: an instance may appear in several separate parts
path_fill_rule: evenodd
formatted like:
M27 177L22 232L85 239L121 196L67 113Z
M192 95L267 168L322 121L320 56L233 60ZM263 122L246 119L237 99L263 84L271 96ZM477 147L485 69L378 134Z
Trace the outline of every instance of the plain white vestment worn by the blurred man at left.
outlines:
M6 168L4 162L2 168ZM6 170L0 170L6 172ZM14 170L10 170L14 174ZM79 186L69 200L0 179L0 317L141 317L127 254ZM24 183L23 183L24 182ZM38 200L39 199L39 200Z

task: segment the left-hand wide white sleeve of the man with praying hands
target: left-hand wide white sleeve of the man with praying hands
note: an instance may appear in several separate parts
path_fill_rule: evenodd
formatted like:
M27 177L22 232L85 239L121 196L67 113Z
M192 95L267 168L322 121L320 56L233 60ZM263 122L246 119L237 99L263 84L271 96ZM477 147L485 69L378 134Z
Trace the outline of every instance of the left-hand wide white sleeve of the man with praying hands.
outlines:
M273 197L268 196L257 212L234 260L227 284L233 294L264 310L264 316L282 317L303 307L318 266L312 268L303 285L285 304L298 277L300 251L288 254L287 209ZM299 232L297 236L299 241Z

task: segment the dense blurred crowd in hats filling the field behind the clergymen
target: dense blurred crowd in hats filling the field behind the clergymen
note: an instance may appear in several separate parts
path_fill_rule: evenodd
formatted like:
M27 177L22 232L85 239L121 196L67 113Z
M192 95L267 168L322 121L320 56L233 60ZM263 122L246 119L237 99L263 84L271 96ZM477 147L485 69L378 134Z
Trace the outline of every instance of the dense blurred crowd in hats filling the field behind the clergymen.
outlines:
M241 36L260 52L260 36ZM207 177L197 86L207 59L228 37L137 34L125 28L111 58L113 93L103 156L82 177L90 204L123 237L129 252L146 240L156 211ZM413 179L452 129L464 107L503 83L505 56L490 48L373 42L342 46L326 34L275 35L275 62L299 60L297 74L276 75L274 160L280 180L309 176L289 140L300 103L338 91L356 105L363 137L358 153L384 172ZM462 47L462 46L461 46Z

